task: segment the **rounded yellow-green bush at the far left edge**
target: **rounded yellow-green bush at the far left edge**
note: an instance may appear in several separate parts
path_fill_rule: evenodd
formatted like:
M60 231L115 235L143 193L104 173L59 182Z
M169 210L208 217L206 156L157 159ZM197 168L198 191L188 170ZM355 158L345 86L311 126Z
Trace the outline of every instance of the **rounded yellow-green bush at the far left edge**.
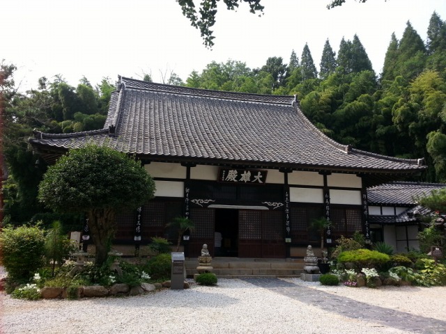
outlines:
M3 228L0 232L1 264L11 280L29 280L40 267L45 255L45 235L37 226Z

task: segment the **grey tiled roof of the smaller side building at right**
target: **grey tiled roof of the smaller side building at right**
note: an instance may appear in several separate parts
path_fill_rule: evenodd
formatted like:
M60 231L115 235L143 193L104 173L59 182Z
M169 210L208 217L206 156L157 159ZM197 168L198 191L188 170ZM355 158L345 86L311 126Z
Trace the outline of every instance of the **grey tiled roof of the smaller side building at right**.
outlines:
M429 196L433 189L446 188L446 184L391 182L367 189L369 205L415 205L415 198Z

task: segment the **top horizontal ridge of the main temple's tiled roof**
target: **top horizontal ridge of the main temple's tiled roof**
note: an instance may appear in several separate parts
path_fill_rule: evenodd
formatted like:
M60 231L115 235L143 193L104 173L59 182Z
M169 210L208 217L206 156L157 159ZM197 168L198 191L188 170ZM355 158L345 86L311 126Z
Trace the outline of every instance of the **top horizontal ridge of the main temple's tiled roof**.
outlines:
M127 77L119 77L120 82L125 84L126 88L134 88L138 90L157 91L164 93L176 93L179 95L194 95L199 97L216 97L224 100L238 100L238 101L251 101L251 102L264 102L270 104L291 104L294 100L292 95L266 95L266 94L254 94L254 93L240 93L230 92L228 90L211 90L203 88L192 88L185 86L174 86L167 84L158 84L151 81L142 81ZM146 87L132 86L129 82L136 82L143 84ZM229 95L229 96L224 96ZM249 98L250 97L250 98Z

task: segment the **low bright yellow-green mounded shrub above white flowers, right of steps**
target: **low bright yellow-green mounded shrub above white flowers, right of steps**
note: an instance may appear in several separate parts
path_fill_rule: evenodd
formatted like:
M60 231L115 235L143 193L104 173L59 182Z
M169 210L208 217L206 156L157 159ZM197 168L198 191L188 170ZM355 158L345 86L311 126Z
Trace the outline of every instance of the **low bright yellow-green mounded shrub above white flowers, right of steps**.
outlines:
M347 250L339 254L338 262L345 264L352 263L356 269L362 268L379 268L386 262L390 261L390 256L379 253L376 250L357 249Z

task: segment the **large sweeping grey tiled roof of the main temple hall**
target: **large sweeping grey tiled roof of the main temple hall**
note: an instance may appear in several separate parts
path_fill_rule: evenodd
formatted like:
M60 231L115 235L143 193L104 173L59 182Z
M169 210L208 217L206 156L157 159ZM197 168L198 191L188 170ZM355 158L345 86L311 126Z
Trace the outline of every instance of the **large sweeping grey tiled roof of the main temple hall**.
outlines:
M109 134L109 127L116 126ZM80 148L90 141L146 159L189 159L308 170L410 174L420 161L351 149L322 134L291 96L255 95L120 78L105 128L36 133L38 149Z

